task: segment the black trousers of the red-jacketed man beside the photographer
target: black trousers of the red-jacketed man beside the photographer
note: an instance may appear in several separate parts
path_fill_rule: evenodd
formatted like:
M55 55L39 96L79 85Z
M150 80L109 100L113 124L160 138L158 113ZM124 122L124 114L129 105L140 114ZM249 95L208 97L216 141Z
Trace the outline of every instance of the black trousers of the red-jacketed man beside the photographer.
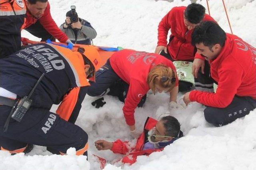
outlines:
M46 41L50 39L51 41L55 41L55 38L46 31L40 21L36 21L36 23L30 25L29 27L25 28L26 31L34 35L35 37L41 38L41 41Z

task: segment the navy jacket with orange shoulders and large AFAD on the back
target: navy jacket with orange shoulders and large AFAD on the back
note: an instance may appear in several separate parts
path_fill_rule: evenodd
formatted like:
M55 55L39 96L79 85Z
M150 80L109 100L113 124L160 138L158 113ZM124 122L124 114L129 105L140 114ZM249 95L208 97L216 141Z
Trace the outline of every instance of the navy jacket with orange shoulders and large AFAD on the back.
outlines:
M81 64L75 65L73 60ZM79 75L79 69L84 75ZM45 76L32 95L34 107L50 109L52 104L60 104L72 88L84 86L87 81L80 53L63 47L40 43L0 59L0 87L18 98L29 94L42 73Z

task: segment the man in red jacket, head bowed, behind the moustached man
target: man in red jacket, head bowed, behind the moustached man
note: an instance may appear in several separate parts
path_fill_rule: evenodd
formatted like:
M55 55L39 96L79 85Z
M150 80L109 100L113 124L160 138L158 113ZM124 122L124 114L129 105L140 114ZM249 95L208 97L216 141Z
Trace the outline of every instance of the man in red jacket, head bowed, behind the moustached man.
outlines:
M211 16L205 14L205 8L201 4L191 3L186 6L176 6L162 18L158 25L158 43L155 50L171 61L193 61L196 55L196 48L191 44L191 34L196 25L202 21L214 21ZM166 39L171 31L169 42ZM196 63L193 63L196 68ZM188 74L188 73L187 73ZM198 84L195 79L195 87ZM179 91L187 92L191 90L192 83L179 81Z

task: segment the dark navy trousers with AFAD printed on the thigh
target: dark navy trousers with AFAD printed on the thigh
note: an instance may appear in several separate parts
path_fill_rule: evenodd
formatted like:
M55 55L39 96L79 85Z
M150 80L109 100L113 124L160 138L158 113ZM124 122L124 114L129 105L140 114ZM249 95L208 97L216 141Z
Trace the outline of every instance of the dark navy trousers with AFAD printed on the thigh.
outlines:
M54 153L66 153L70 147L83 149L88 141L87 133L79 126L61 119L48 109L30 107L22 121L10 119L8 130L4 123L12 107L0 106L0 147L14 151L27 144L46 146ZM86 155L87 152L84 152Z

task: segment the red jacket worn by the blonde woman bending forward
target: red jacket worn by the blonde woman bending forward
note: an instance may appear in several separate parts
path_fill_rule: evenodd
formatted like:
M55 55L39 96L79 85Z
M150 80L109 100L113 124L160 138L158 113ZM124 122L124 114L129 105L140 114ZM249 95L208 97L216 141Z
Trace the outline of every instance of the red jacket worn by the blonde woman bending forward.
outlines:
M113 70L130 85L123 107L124 117L128 125L135 124L134 109L150 89L146 82L148 73L153 66L158 64L164 64L176 72L176 68L170 60L154 53L124 49L110 57L110 65ZM178 86L177 77L176 86Z

